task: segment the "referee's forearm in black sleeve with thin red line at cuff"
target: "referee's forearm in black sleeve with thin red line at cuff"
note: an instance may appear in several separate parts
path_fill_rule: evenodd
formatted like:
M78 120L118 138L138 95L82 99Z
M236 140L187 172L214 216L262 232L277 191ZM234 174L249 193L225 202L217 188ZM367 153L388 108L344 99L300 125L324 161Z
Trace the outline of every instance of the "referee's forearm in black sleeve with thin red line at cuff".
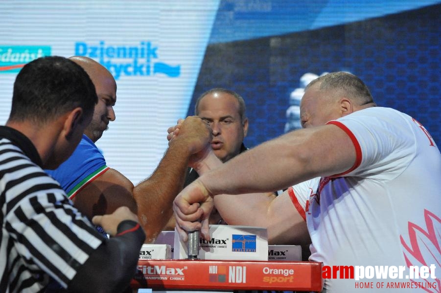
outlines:
M135 273L144 239L137 222L121 222L118 234L103 242L80 267L69 283L69 292L123 292Z

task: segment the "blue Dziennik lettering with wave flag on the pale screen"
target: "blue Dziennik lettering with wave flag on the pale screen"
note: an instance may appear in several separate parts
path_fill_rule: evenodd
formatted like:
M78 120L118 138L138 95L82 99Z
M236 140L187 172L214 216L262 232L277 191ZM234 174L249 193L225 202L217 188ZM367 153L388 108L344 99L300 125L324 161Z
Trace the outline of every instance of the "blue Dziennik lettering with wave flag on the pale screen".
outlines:
M158 47L148 41L120 46L104 41L100 41L99 44L76 42L75 55L98 59L116 80L122 75L152 76L161 73L168 77L178 77L181 74L181 65L158 62Z

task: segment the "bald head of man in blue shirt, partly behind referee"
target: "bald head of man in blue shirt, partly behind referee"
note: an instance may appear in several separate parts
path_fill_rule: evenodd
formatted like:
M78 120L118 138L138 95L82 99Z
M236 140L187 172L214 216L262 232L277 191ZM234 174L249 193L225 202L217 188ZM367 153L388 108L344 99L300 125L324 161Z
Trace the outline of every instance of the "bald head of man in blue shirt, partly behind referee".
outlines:
M113 109L116 103L116 82L106 67L91 58L73 56L69 59L83 67L95 85L98 104L95 105L92 122L86 127L84 134L96 142L108 129L109 122L116 119Z

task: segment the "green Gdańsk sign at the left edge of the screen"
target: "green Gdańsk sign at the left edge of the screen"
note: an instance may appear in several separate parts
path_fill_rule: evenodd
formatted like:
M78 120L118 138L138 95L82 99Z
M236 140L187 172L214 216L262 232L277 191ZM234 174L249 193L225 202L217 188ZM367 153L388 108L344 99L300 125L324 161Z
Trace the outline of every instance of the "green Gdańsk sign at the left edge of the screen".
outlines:
M17 73L43 56L50 56L50 46L0 46L0 73Z

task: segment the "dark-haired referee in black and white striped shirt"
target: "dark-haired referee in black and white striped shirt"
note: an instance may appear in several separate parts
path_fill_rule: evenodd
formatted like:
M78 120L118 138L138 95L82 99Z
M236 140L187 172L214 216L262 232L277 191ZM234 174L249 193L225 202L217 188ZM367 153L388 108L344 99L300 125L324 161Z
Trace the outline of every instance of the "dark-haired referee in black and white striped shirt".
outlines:
M66 160L97 102L88 74L63 57L26 64L14 83L6 126L0 126L0 293L124 292L145 234L128 208L95 216L107 239L78 212L43 168Z

